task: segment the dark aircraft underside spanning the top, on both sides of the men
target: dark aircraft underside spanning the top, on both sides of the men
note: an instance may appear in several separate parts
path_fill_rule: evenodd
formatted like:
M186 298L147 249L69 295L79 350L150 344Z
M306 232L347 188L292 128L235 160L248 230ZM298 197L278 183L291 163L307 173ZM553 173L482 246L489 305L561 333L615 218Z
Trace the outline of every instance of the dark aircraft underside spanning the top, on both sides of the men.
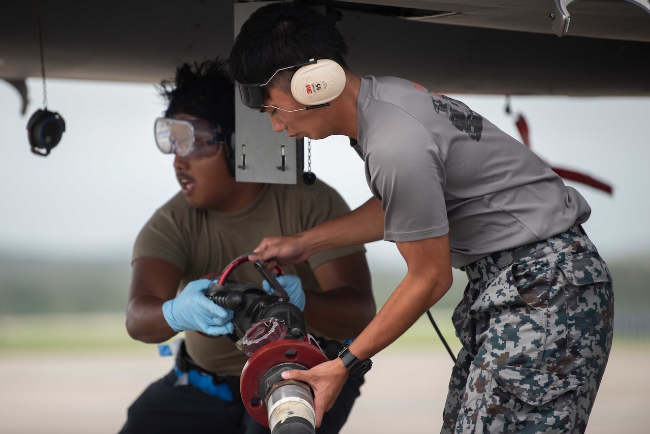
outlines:
M227 57L233 42L234 1L38 3L49 78L155 83L180 62ZM650 95L648 0L307 3L341 12L357 75L447 93ZM0 7L0 78L41 75L36 4ZM558 10L570 15L561 38Z

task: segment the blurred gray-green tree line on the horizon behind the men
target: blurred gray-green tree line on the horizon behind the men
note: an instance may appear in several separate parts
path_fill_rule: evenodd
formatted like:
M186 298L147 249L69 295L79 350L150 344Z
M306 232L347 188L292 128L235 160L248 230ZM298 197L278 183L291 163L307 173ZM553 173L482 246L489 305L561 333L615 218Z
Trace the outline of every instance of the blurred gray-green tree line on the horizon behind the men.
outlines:
M650 307L648 258L608 261L617 314ZM403 271L372 267L378 308L404 277ZM0 255L0 314L123 312L131 278L129 260L56 260ZM467 283L454 270L454 285L437 306L453 308Z

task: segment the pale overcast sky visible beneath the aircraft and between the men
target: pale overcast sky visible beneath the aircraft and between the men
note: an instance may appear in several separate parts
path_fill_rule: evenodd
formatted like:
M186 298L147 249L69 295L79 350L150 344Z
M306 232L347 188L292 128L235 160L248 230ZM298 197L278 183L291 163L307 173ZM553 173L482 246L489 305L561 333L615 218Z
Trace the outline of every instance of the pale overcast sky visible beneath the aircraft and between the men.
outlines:
M164 109L154 86L48 80L48 108L63 116L66 132L39 157L25 126L42 107L42 83L27 85L30 103L21 116L18 92L0 81L0 252L128 261L142 225L179 190L173 157L153 141L153 120ZM450 96L519 139L504 96ZM642 254L650 265L650 98L515 96L510 105L526 116L532 149L549 164L614 186L610 196L567 182L591 205L584 226L601 254ZM313 141L312 169L352 208L370 197L363 162L344 137ZM370 260L402 261L392 243L368 247Z

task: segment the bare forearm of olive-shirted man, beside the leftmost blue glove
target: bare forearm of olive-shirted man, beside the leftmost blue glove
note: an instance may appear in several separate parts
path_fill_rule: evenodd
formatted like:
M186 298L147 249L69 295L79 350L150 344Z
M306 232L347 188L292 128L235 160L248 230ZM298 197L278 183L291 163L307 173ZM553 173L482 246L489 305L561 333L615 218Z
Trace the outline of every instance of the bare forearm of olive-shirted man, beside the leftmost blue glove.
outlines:
M131 299L126 310L126 329L131 338L157 344L176 334L162 315L162 300L151 295Z

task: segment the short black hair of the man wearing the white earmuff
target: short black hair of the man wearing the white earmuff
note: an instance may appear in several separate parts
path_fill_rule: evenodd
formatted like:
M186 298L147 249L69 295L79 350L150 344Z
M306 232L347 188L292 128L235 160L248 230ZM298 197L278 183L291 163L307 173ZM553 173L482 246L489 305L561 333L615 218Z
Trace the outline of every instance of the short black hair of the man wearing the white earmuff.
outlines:
M266 83L287 66L309 59L331 59L349 70L348 46L334 22L300 3L271 3L257 9L242 25L230 53L230 78ZM280 72L269 87L289 92L294 70Z

